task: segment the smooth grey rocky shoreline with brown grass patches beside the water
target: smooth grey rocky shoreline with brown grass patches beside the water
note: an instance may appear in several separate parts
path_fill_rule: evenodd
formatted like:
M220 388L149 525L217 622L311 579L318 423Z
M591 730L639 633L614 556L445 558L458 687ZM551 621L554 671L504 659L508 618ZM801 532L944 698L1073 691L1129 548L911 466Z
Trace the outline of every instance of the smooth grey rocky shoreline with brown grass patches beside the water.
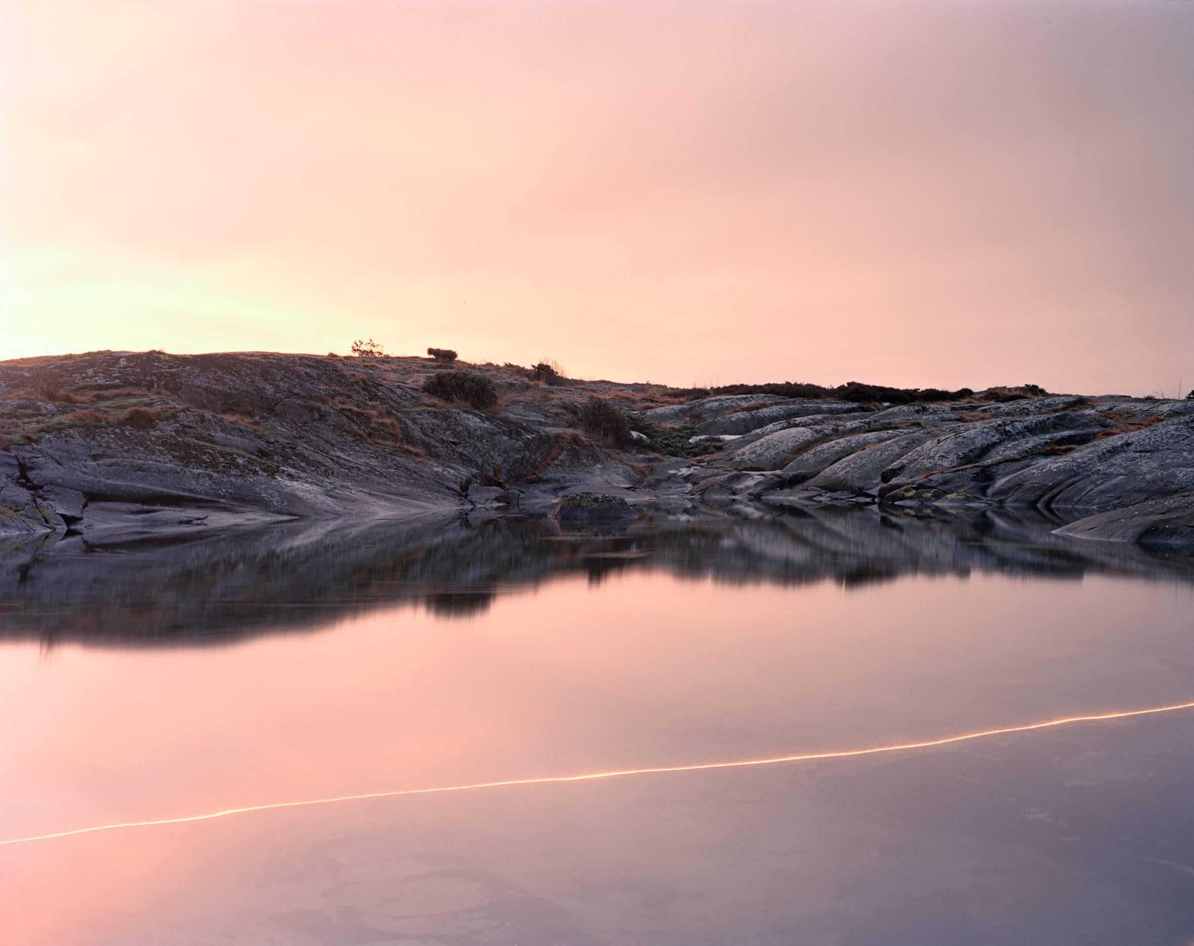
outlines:
M488 378L493 403L429 394L444 370L430 358L0 363L0 544L479 508L592 525L874 506L1033 509L1072 538L1194 546L1192 400L1011 389L891 404L451 367ZM586 429L591 398L627 419L627 440Z

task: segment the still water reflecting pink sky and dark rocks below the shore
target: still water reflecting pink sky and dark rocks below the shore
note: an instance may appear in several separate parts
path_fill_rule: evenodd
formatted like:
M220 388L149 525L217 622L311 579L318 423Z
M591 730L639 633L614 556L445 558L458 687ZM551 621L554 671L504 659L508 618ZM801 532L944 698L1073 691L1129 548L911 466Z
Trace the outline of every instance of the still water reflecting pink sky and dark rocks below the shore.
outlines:
M1194 942L1194 562L1048 523L10 549L6 946Z

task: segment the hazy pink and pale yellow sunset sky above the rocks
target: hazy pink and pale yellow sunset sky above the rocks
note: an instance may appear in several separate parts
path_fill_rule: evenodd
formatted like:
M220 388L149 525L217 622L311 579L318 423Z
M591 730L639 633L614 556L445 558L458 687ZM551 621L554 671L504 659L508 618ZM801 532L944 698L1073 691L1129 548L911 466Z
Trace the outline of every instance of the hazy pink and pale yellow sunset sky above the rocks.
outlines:
M1194 2L5 0L0 358L1194 388Z

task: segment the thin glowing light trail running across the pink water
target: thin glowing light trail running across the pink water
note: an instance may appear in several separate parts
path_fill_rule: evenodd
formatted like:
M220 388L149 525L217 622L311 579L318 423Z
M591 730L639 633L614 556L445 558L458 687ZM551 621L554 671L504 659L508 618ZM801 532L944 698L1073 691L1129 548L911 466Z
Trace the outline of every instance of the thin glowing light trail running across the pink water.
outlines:
M800 755L776 755L768 759L739 759L731 762L697 762L681 766L658 766L656 768L622 768L610 772L589 772L580 775L542 775L528 779L505 779L501 781L474 781L468 785L441 785L432 789L400 789L390 792L368 792L365 794L341 794L336 798L312 798L303 802L275 802L267 805L248 805L247 808L228 808L223 811L209 811L207 815L187 815L179 818L156 818L154 821L127 821L118 824L97 824L91 828L75 828L69 831L56 831L54 834L38 834L31 837L12 837L0 841L0 847L5 845L25 845L31 841L53 841L56 837L73 837L79 834L94 834L97 831L115 831L121 828L152 828L159 824L186 824L193 821L211 821L223 818L228 815L246 815L251 811L271 811L279 808L306 808L308 805L331 805L338 802L363 802L370 798L399 798L407 794L441 794L444 792L469 792L478 789L505 789L515 785L550 785L565 781L597 781L598 779L617 779L626 775L663 775L672 772L707 772L714 768L747 768L750 766L775 766L786 762L813 762L823 759L854 759L862 755L880 755L882 753L901 753L912 749L931 749L937 746L949 746L955 742L968 742L971 740L990 738L991 736L1007 736L1014 732L1030 732L1036 729L1053 729L1055 726L1073 725L1076 723L1098 723L1108 719L1127 719L1133 716L1156 716L1157 713L1177 712L1180 710L1194 710L1192 703L1175 703L1170 706L1150 706L1144 710L1121 710L1116 712L1093 713L1090 716L1067 716L1061 719L1047 719L1044 723L1024 723L1022 725L1004 726L1002 729L983 729L977 732L962 732L958 736L942 736L941 738L925 740L923 742L901 742L894 746L874 746L869 749L844 749L838 752L802 753Z

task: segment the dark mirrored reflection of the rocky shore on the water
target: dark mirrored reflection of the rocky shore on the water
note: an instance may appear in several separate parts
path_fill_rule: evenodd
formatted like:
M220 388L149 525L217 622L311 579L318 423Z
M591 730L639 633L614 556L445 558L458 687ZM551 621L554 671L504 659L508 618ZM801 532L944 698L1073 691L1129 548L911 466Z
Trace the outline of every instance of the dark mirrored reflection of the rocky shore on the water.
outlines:
M1078 579L1091 573L1188 582L1194 557L1066 539L1046 517L949 520L874 509L764 521L651 523L561 533L543 519L433 518L293 524L174 544L93 549L80 540L0 556L0 639L44 645L191 645L322 627L421 602L447 618L555 577L627 570L732 583L847 587L972 570Z

